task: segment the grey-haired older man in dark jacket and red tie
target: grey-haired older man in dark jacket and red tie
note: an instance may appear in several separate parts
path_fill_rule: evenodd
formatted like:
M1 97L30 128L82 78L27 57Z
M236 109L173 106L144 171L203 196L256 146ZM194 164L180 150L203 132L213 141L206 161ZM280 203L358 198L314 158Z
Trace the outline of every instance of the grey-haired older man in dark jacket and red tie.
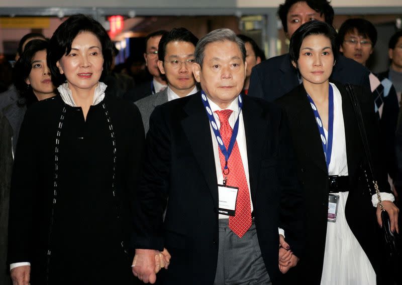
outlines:
M151 115L133 262L144 282L156 281L155 255L164 247L171 261L158 275L163 284L277 284L280 270L302 256L303 210L287 120L271 103L239 95L245 57L233 31L209 33L192 65L202 91ZM287 247L283 231L292 245L287 269L278 266L279 243Z

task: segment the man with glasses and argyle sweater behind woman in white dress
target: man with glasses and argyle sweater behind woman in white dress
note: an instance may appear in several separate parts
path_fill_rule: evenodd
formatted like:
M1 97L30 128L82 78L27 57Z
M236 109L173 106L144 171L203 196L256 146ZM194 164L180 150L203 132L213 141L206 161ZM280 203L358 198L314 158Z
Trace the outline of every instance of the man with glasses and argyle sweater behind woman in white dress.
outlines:
M359 18L346 20L339 28L337 42L339 51L347 58L363 66L373 53L377 42L377 30L374 25ZM370 73L370 87L375 102L375 111L380 118L382 155L389 177L396 175L395 131L399 104L392 82L377 74ZM389 180L392 185L392 181ZM396 196L396 192L393 191Z

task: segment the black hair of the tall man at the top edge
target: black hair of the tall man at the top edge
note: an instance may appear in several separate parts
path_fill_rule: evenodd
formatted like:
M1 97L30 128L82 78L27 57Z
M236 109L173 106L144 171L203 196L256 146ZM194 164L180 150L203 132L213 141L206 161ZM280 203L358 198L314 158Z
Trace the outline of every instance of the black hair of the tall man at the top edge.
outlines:
M330 1L327 0L285 0L285 3L279 5L278 8L278 16L280 21L282 22L283 31L287 32L287 13L289 13L290 7L297 2L306 2L307 5L320 13L320 15L324 15L325 22L332 25L334 21L334 9L332 8Z

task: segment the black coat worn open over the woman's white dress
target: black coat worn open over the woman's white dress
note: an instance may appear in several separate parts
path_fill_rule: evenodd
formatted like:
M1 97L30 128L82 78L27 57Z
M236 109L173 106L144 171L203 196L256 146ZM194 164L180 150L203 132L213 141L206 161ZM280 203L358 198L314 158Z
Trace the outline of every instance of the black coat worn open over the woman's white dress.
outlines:
M345 87L336 83L342 95L342 111L345 124L346 153L350 191L346 202L345 216L353 234L364 249L377 276L379 275L379 252L376 208L372 206L371 195L359 180L360 164L365 154L356 116ZM378 120L375 116L371 93L354 86L359 100L369 146L372 153L374 173L381 192L390 192L386 173L378 156ZM306 205L306 258L300 260L297 280L300 283L320 284L324 261L328 211L328 171L321 143L320 133L303 84L276 100L289 119L290 132L297 157L297 174L303 184ZM334 138L336 139L336 138ZM290 245L291 246L291 245ZM289 271L290 274L292 272ZM294 272L293 272L294 273Z

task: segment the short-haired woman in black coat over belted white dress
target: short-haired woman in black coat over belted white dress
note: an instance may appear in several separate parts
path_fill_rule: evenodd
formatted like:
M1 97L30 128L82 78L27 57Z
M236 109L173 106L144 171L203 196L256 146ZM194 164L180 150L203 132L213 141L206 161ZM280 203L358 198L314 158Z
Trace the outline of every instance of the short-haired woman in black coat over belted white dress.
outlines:
M380 211L361 179L366 157L353 106L345 87L329 81L336 64L335 36L331 26L319 21L293 34L290 58L302 84L277 100L289 119L306 206L307 254L288 277L298 273L297 283L306 284L376 284L381 276ZM354 92L384 208L397 230L398 209L378 157L373 99L357 86Z

